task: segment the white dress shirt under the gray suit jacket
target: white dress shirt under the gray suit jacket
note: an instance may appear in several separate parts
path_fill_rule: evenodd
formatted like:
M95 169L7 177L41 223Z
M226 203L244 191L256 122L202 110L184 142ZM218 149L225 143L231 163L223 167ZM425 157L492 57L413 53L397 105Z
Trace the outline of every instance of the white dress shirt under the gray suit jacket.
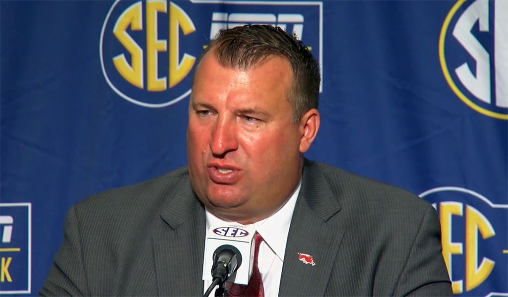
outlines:
M265 289L265 296L278 296L280 277L282 274L282 263L284 261L284 253L286 243L288 241L289 227L291 225L291 218L295 210L296 200L300 193L302 181L298 183L295 191L290 199L273 215L268 218L249 224L252 228L263 237L258 253L258 268L263 279L263 287ZM232 222L224 221L206 210L206 229L210 230L210 226L228 225ZM241 225L241 224L240 224ZM207 260L207 259L205 259ZM211 281L204 281L206 291ZM226 283L225 286L229 288L231 284ZM210 296L214 295L214 290Z

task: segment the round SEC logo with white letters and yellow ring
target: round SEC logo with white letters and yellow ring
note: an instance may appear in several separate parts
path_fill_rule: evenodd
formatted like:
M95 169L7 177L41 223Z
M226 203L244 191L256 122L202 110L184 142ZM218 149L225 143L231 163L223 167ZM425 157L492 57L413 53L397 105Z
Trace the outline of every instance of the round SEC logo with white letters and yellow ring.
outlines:
M507 120L508 1L457 1L444 19L438 47L444 78L460 100Z

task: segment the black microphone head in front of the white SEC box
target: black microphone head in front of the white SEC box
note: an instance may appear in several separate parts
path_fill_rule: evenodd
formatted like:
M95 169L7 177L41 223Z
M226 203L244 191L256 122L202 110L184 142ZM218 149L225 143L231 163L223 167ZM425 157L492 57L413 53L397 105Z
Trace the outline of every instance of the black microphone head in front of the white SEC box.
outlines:
M218 277L220 283L227 281L240 267L242 254L229 244L221 245L213 252L212 279Z

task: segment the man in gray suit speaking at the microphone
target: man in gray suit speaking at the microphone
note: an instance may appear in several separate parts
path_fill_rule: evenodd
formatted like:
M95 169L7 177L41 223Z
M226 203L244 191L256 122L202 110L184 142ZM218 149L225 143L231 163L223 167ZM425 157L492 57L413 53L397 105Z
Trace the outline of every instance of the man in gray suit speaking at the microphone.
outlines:
M320 79L280 28L222 31L195 72L188 169L73 206L40 293L202 295L207 229L238 222L263 238L267 296L452 295L428 203L304 159Z

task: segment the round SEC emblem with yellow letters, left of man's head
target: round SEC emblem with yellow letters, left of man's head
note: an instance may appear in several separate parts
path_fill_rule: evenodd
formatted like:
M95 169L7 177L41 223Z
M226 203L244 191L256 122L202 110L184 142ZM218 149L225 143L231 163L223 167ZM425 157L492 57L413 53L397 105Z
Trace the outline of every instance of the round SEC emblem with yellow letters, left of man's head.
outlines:
M165 107L182 100L190 94L189 74L200 51L184 38L195 31L193 20L174 2L115 2L100 39L106 81L140 106Z

